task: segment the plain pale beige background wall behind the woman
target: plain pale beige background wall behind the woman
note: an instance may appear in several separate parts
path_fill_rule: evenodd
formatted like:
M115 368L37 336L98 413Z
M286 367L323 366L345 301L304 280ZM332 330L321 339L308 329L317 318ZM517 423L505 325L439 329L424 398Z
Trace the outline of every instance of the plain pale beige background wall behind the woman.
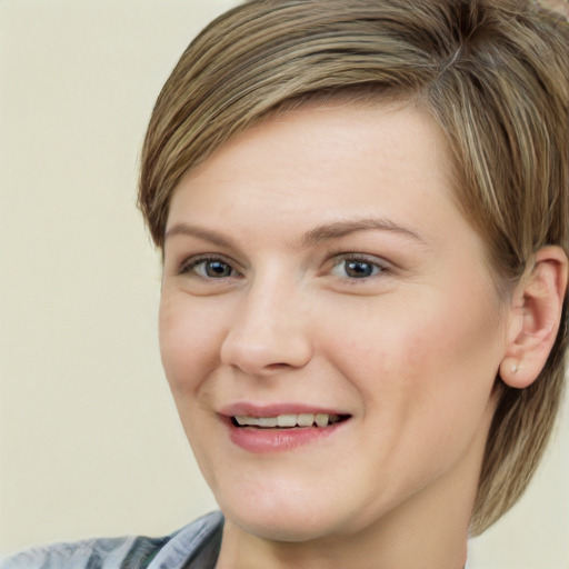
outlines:
M231 0L0 0L0 552L214 508L160 368L134 208L151 107ZM567 407L567 406L566 406ZM569 567L569 417L476 569Z

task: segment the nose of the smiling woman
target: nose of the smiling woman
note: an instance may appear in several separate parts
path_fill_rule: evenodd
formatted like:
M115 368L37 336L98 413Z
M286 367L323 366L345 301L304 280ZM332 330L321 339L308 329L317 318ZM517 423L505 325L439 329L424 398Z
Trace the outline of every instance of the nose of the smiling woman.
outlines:
M302 368L311 360L309 316L299 295L259 284L240 300L221 345L222 363L259 376Z

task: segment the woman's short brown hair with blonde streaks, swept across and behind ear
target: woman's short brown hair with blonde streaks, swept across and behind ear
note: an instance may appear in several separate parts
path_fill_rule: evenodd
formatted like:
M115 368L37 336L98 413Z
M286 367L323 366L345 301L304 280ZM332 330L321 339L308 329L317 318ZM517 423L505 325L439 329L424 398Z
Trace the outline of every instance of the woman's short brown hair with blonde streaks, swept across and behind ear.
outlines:
M201 32L160 93L139 204L157 246L181 176L274 109L315 97L418 101L446 133L457 199L503 290L537 249L569 253L569 26L529 0L250 0ZM565 383L560 330L532 386L503 386L471 520L526 489Z

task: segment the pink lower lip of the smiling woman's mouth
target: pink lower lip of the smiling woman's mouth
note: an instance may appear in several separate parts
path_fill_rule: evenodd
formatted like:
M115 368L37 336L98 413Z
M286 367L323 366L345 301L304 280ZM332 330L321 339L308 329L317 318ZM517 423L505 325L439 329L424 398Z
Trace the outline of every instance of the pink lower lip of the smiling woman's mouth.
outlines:
M282 452L316 443L330 437L346 422L328 427L296 427L292 429L258 429L254 427L236 427L229 419L229 437L238 447L259 453Z

